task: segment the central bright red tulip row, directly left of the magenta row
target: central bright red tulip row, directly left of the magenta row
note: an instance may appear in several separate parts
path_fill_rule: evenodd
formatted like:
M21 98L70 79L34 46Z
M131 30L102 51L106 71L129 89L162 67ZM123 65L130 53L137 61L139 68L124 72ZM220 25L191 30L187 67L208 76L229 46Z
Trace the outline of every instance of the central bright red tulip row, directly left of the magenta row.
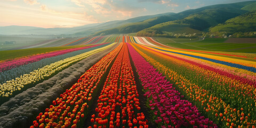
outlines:
M148 127L145 116L139 113L137 87L125 44L118 54L92 115L93 127ZM91 127L91 126L89 126Z

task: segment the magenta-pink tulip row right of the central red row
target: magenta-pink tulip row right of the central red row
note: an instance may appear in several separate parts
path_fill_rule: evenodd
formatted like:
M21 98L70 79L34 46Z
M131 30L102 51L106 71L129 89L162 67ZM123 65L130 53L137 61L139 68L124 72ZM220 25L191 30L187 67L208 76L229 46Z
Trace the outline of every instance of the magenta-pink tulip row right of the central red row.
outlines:
M183 95L180 95L130 44L128 47L142 86L147 90L146 95L152 98L149 100L149 106L158 116L155 120L157 124L161 124L161 127L217 127L209 118L201 116L196 106L187 100L181 100Z

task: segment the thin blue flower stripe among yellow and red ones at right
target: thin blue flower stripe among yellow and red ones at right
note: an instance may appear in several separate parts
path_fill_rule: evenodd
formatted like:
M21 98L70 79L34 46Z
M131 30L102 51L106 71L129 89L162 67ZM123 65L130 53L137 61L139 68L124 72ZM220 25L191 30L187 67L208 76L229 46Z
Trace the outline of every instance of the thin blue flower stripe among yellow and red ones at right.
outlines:
M150 46L150 47L152 47L152 46ZM256 68L255 67L249 67L249 66L239 65L237 63L231 63L231 62L220 61L220 60L215 60L215 59L211 59L211 58L200 57L200 56L197 56L197 55L191 55L191 54L185 54L185 53L180 53L180 52L172 52L172 51L168 51L168 50L162 50L162 49L159 49L159 48L156 48L156 47L152 47L152 48L153 49L157 49L157 50L161 50L161 51L165 51L165 52L171 52L171 53L186 55L188 57L204 59L204 60L212 61L212 62L215 62L215 63L220 63L222 65L227 65L227 66L230 66L230 67L241 68L241 69L249 70L249 71L252 71L253 73L256 73Z

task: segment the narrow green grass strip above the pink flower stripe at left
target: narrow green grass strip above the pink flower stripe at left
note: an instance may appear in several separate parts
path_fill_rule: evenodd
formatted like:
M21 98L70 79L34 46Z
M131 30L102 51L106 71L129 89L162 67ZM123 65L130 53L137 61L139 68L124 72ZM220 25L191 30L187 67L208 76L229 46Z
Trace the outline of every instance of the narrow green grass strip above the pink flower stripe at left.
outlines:
M63 46L63 47L41 47L41 48L33 48L33 49L0 51L0 60L20 58L27 55L46 53L46 52L65 50L65 49L84 47L84 46L87 46L87 45L75 45L75 46Z

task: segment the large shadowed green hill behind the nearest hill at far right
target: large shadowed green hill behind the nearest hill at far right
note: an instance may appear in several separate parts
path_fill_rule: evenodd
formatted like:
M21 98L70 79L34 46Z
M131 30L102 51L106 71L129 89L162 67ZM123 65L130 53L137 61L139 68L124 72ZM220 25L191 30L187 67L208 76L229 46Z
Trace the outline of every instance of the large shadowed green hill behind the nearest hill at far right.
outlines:
M150 28L143 29L137 33L138 36L165 36L165 37L195 37L194 33L202 33L202 31L209 31L213 26L219 25L231 18L244 17L247 15L248 10L252 10L251 5L255 4L255 1L250 2L240 2L234 4L220 4L212 5L207 7L202 7L196 10L188 10L176 15L183 16L183 18L175 21L169 21L160 23ZM192 14L189 14L193 12ZM245 14L246 13L246 14ZM189 15L188 15L189 14ZM252 13L248 13L251 15ZM186 16L187 15L187 16ZM248 17L249 18L249 17ZM253 22L254 19L250 19L247 22ZM231 20L232 22L234 20ZM241 19L237 19L237 22ZM255 22L255 20L254 20ZM249 31L253 30L253 25L249 26L250 23L247 23L247 27L252 27L247 29ZM252 23L251 23L252 24ZM236 27L236 26L234 26ZM245 29L246 29L245 28ZM211 31L222 30L220 26L218 29L214 28ZM241 30L241 29L236 29ZM176 35L175 35L176 34ZM177 36L179 34L179 36ZM191 35L193 34L193 35Z

